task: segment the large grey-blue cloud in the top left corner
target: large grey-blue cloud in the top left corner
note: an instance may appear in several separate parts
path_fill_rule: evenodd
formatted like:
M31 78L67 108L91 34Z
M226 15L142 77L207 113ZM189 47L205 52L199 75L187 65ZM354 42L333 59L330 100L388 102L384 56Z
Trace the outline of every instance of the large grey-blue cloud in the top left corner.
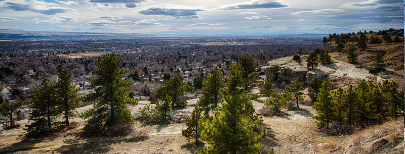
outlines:
M60 7L54 3L47 3L37 0L6 0L0 2L0 8L11 9L14 11L31 11L46 15L54 15L58 13L76 12L74 9Z

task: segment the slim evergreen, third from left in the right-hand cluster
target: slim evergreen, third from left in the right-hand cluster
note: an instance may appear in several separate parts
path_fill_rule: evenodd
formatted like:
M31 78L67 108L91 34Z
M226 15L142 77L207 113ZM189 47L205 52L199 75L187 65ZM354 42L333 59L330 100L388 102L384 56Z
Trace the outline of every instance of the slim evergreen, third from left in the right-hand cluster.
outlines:
M351 124L352 119L355 113L355 102L356 102L356 93L353 90L353 86L350 84L349 88L344 93L343 104L345 106L347 123Z

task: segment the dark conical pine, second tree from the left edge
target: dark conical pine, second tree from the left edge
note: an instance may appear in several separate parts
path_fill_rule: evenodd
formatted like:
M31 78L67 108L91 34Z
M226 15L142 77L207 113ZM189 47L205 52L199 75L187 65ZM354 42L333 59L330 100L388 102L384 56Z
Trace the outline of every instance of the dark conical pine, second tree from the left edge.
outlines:
M32 109L28 121L34 121L27 128L27 136L36 137L45 134L52 129L55 119L60 115L57 106L57 93L54 85L48 78L44 78L38 89L32 94Z

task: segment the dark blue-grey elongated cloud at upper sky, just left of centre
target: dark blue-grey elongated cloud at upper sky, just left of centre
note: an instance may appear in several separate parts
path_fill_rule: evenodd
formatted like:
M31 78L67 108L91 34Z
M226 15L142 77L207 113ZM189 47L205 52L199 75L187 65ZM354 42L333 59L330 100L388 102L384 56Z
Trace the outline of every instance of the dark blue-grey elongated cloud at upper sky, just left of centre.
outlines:
M201 8L172 5L172 6L152 6L144 10L139 11L140 14L144 15L165 15L172 16L175 18L184 19L199 19L200 16L197 12L204 11Z

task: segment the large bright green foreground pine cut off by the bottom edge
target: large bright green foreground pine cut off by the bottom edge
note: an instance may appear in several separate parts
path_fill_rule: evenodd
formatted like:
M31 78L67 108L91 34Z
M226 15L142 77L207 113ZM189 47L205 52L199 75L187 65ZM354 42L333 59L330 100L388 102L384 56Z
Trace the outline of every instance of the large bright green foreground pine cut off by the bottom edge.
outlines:
M199 153L259 153L262 120L252 120L249 109L253 108L250 95L244 86L240 66L229 68L229 77L222 90L224 104L213 120L203 123L201 137L210 144Z

